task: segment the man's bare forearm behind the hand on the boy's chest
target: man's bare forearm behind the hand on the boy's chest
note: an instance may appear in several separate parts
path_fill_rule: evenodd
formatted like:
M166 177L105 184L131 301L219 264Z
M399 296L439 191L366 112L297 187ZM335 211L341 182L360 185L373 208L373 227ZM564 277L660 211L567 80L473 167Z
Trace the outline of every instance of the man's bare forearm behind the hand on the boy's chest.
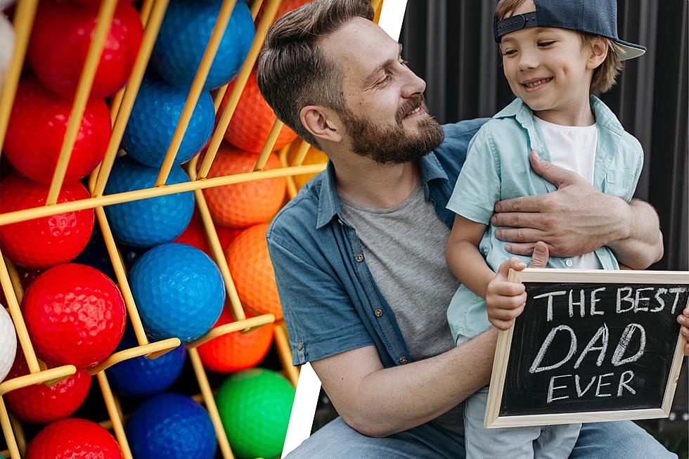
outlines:
M619 220L620 237L607 245L621 264L646 269L663 256L658 214L647 202L632 200L626 218Z

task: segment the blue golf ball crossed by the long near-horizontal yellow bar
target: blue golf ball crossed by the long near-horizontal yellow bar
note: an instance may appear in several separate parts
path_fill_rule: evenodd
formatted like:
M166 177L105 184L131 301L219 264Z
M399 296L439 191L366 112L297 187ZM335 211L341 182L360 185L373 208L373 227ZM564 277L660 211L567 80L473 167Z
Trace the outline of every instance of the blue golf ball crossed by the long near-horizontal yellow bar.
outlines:
M115 161L105 186L105 194L153 188L159 169L144 166L123 156ZM172 167L167 185L189 181L181 167ZM153 247L179 236L194 212L193 192L175 193L105 207L112 235L120 243Z

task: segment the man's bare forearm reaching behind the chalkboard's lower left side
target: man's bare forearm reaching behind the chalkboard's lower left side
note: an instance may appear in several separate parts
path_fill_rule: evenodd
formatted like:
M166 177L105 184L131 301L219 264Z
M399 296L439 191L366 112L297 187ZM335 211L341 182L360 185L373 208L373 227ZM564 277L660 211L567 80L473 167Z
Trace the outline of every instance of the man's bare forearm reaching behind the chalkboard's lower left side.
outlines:
M496 336L491 329L444 354L375 371L361 381L356 403L335 408L369 437L386 437L437 418L488 384Z

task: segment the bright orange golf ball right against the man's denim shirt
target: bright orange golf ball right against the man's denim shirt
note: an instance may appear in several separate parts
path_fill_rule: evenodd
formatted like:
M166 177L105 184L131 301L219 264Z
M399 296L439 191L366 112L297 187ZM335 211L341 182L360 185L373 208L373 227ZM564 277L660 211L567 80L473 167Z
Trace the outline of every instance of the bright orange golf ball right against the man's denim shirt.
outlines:
M225 256L244 310L252 316L273 314L276 321L283 311L268 254L268 224L245 229L227 247Z

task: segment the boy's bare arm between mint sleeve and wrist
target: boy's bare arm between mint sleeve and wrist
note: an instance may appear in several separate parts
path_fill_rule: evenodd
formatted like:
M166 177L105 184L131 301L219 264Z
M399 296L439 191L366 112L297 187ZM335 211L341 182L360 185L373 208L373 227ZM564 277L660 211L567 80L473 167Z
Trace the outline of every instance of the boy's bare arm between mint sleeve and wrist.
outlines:
M445 249L445 258L450 271L469 290L483 299L486 298L489 282L495 276L478 249L486 228L487 225L455 215Z

